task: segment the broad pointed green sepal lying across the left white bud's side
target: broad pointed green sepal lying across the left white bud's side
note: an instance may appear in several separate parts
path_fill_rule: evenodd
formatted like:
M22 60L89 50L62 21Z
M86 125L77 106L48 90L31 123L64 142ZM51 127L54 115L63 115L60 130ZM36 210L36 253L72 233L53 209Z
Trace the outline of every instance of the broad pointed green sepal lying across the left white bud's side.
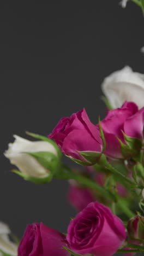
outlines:
M26 152L26 154L33 156L40 165L45 167L52 173L58 171L59 159L51 152Z

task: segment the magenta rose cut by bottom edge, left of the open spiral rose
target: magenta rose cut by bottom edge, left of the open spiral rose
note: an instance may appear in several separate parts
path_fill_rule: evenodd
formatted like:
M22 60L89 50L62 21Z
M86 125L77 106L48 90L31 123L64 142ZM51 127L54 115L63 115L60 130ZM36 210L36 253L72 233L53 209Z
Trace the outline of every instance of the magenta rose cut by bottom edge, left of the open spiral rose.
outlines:
M17 256L70 256L62 247L65 237L43 223L27 225Z

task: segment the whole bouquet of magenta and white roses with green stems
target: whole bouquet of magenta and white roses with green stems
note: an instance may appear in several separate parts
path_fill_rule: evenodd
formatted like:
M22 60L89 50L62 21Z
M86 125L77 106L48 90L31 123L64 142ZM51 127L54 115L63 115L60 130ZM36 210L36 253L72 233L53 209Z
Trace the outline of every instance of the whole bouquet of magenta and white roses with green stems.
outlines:
M143 1L133 2L143 10ZM17 167L13 172L35 184L67 180L67 197L78 213L66 234L33 223L21 241L0 223L0 255L144 252L144 75L127 66L105 78L101 89L107 108L103 120L93 124L83 108L61 118L48 136L26 132L37 141L15 135L9 144L4 155ZM65 165L62 154L77 168Z

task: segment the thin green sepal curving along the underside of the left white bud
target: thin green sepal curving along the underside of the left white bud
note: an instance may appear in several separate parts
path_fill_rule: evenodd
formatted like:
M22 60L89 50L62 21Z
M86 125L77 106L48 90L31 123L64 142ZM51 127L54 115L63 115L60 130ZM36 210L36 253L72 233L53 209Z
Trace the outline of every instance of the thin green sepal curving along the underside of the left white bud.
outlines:
M47 176L45 177L32 177L32 176L28 176L26 174L21 173L19 170L12 170L12 172L18 174L20 177L22 177L23 179L25 179L26 181L29 182L33 182L35 184L45 184L45 183L49 183L51 182L53 175L52 173L47 174Z

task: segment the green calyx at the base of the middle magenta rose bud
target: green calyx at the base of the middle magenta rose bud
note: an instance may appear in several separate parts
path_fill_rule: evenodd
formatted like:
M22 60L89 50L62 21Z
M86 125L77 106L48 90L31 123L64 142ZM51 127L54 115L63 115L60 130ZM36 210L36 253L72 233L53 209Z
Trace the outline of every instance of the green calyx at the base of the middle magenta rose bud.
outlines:
M79 154L85 158L90 164L94 165L101 157L100 152L93 152L93 151L78 151Z

